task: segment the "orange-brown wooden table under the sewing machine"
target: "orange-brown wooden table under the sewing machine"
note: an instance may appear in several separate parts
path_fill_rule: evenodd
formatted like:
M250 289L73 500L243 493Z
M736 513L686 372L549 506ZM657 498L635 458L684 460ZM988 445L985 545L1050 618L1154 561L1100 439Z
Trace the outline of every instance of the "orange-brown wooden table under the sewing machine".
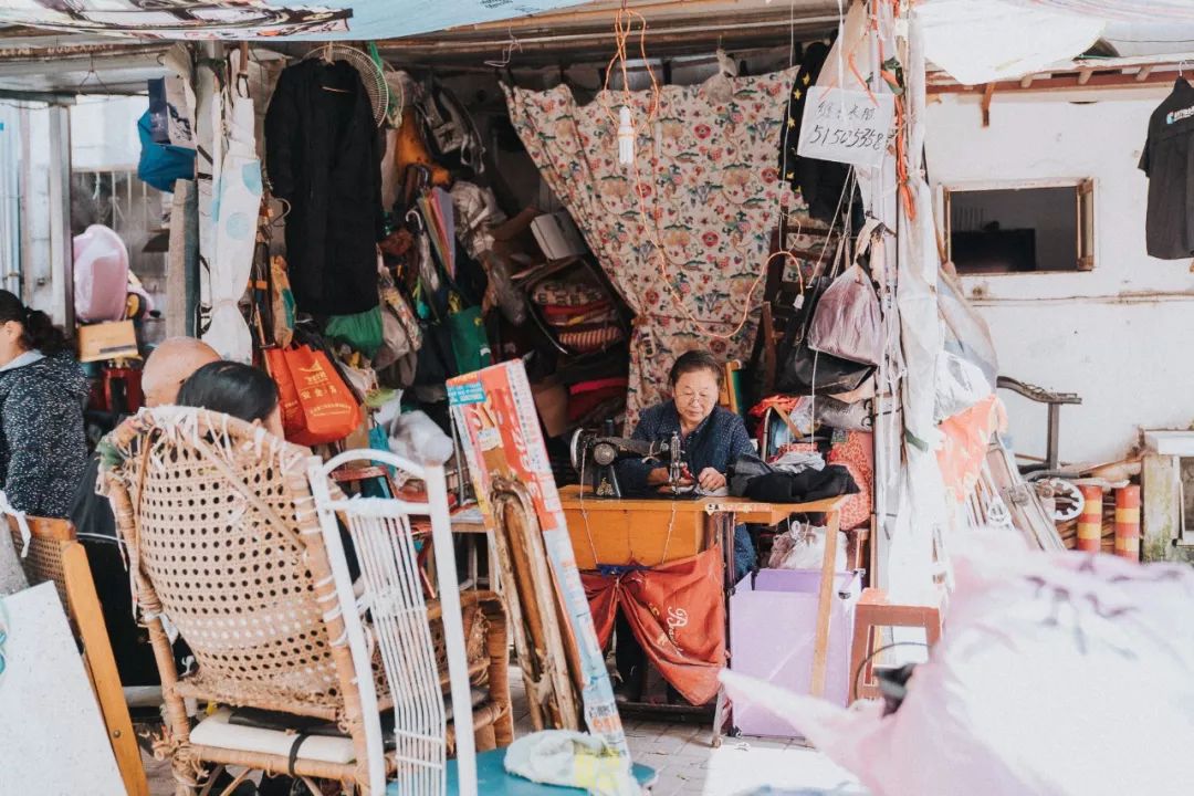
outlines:
M837 533L845 500L845 495L804 504L769 504L728 496L621 499L596 498L579 486L560 489L560 504L567 518L577 567L580 569L596 569L599 563L624 564L630 561L659 566L707 550L710 544L721 544L726 572L732 573L736 525L776 525L793 514L825 514L825 556L821 560L820 590L817 597L817 636L810 687L810 693L814 697L825 691ZM733 586L726 590L727 644L728 597L732 588ZM714 746L721 743L722 729L730 718L727 708L725 690L721 690L713 717Z

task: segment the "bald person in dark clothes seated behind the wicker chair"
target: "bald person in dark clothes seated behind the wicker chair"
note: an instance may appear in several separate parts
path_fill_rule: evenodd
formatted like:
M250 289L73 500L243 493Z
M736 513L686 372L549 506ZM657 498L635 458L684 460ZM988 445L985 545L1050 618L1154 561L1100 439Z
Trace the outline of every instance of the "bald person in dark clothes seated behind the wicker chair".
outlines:
M146 406L173 403L183 382L203 365L217 359L220 354L207 343L193 338L165 340L153 350L141 371L141 391L144 394ZM129 575L124 569L124 557L116 536L112 507L107 498L96 494L98 476L99 456L93 453L75 490L70 522L87 553L121 681L124 685L156 685L159 677L153 650L146 631L133 618Z

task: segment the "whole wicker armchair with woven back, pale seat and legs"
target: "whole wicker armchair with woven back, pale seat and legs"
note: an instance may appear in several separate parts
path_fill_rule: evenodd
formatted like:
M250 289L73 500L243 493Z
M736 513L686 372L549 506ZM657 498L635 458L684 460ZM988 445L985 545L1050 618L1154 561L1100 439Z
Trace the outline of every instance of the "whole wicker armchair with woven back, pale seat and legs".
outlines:
M142 411L110 439L123 461L105 468L101 482L128 544L134 598L161 673L161 748L172 759L177 794L193 796L201 771L226 765L297 776L313 792L313 779L332 779L349 792L376 794L370 763L376 769L377 715L363 711L362 691L375 695L377 710L392 709L394 699L381 655L361 660L362 636L370 634L356 601L338 592L333 563L343 562L343 551L328 555L309 480L321 471L319 459L204 409ZM478 746L509 743L505 611L490 592L468 593L461 603L469 673L488 681L473 724L493 730L478 733ZM427 616L431 622L443 611L432 605ZM197 666L185 677L162 617L195 655ZM453 635L455 623L442 624L447 634L432 628L437 641ZM444 643L437 647L443 661ZM371 681L358 679L357 671L369 667ZM441 675L441 687L447 679ZM189 699L221 709L192 724ZM296 729L297 717L334 722L343 735L296 745L293 733L236 726L226 706L287 714ZM396 767L396 754L384 753L387 775Z

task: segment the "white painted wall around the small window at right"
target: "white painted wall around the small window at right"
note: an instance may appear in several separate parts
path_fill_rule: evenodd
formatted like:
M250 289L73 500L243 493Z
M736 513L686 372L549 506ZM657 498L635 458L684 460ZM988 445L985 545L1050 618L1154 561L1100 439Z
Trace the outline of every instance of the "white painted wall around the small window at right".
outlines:
M991 125L977 99L928 109L934 186L1093 177L1095 270L964 278L986 319L1001 372L1083 405L1061 409L1061 457L1108 461L1140 427L1194 424L1194 272L1145 253L1147 180L1137 168L1149 115L1169 88L996 94ZM1045 408L1001 391L1018 452L1045 452Z

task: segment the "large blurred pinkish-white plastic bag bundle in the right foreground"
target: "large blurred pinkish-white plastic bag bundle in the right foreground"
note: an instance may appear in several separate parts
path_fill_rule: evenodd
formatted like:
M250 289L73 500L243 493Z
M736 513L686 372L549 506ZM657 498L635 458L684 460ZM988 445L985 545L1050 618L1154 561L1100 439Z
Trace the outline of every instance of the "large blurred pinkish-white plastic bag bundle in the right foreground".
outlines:
M731 697L771 705L875 796L1190 792L1194 570L1007 532L954 547L944 635L896 712L724 673Z

